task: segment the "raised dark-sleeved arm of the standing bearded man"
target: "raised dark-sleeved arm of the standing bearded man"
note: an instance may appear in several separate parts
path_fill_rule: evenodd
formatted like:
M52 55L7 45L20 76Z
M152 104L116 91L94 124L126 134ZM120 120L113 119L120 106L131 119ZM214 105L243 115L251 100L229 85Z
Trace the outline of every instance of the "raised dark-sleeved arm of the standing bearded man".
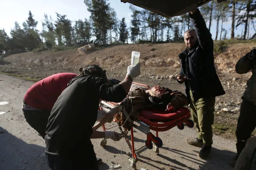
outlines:
M199 45L202 49L213 49L212 34L206 27L206 22L199 9L189 12L189 16L195 26Z

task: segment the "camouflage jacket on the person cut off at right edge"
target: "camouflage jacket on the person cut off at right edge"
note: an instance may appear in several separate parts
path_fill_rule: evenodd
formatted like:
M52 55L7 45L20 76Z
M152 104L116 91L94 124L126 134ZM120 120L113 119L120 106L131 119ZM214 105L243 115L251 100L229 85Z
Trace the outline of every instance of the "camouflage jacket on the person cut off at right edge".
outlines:
M238 74L248 73L250 70L252 70L252 76L247 81L243 97L256 105L256 48L241 57L236 63Z

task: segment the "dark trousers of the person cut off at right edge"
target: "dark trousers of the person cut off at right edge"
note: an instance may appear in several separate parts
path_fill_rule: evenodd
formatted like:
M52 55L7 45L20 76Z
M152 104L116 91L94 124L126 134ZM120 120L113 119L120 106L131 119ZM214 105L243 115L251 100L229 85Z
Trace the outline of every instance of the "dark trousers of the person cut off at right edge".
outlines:
M251 137L252 131L256 127L256 105L245 98L242 99L243 101L236 128L236 158L238 158L244 149L247 139Z

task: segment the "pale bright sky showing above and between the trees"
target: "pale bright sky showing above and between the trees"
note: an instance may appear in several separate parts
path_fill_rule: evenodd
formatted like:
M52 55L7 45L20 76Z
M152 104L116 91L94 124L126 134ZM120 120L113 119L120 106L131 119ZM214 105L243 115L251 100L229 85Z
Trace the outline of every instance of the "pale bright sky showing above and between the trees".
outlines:
M129 3L122 3L120 0L109 0L111 8L114 8L117 18L125 17L127 25L131 21L131 10ZM141 9L141 8L140 8ZM28 12L31 10L34 15L34 20L38 21L37 29L42 30L41 21L44 19L44 14L51 16L56 20L56 13L67 15L71 21L89 19L90 13L87 11L87 6L84 0L2 0L0 10L0 29L4 29L10 36L10 30L14 28L14 22L17 21L20 26L28 18ZM207 26L209 26L207 22ZM224 24L224 28L228 30L227 38L230 37L231 20ZM239 26L235 30L235 37L241 35L244 26ZM212 38L216 36L216 22L212 23L211 27ZM250 35L255 33L252 26L250 27ZM219 28L220 35L220 28ZM219 38L218 38L219 39Z

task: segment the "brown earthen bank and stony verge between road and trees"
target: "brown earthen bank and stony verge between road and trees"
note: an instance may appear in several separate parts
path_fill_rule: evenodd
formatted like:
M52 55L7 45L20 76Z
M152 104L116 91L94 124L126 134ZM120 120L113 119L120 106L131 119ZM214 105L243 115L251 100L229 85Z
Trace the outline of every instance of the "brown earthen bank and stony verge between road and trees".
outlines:
M240 57L248 53L254 43L233 43L215 55L215 65L226 94L216 97L214 133L234 138L234 131L240 111L241 96L251 73L235 73L235 65ZM179 73L178 54L183 43L128 44L97 48L86 54L77 49L66 51L27 52L10 55L0 60L0 72L25 79L40 80L59 72L77 73L79 67L98 64L107 70L108 77L123 79L127 66L131 63L131 51L141 52L141 75L135 79L149 86L160 85L184 92L184 85L177 83ZM256 133L255 133L256 134Z

